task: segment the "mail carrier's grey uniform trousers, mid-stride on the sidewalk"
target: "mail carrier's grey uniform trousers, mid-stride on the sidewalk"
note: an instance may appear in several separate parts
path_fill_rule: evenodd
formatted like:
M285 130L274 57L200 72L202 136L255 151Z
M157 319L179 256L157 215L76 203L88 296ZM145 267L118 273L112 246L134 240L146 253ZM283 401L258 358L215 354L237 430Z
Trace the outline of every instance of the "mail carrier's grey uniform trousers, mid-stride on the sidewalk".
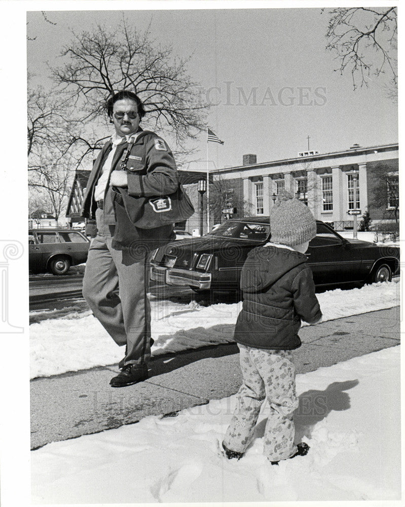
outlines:
M96 211L97 235L91 240L83 278L83 296L108 334L125 345L119 367L148 363L151 358L151 307L148 250L115 250L114 226L105 225Z

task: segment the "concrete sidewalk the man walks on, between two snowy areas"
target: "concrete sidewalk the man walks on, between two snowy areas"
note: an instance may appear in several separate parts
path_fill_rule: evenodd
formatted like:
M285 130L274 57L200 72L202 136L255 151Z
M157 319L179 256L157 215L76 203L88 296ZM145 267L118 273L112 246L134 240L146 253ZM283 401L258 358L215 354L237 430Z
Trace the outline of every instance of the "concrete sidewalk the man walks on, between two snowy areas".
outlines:
M306 326L297 373L398 345L399 323L395 307ZM32 380L31 448L203 405L235 393L241 383L235 343L158 356L149 380L114 389L109 380L118 371L102 367Z

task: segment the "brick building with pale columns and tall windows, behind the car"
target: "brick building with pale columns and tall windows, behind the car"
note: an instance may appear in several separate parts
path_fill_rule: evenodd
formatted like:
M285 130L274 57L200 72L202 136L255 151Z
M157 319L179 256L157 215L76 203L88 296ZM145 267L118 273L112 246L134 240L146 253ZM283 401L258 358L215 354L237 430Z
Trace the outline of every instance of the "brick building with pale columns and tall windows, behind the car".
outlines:
M243 155L241 166L212 171L230 205L239 205L237 216L268 215L273 198L288 189L303 200L316 219L339 230L350 227L352 209L370 212L373 223L395 220L398 208L398 144L360 147L319 154L301 152L297 157L257 163Z

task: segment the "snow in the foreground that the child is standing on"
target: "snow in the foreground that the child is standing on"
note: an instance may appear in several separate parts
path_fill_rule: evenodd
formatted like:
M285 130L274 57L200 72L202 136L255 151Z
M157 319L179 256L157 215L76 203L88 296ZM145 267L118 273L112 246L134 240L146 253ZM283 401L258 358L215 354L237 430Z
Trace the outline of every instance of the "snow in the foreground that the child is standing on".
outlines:
M233 395L32 451L32 502L399 500L399 355L391 347L297 375L307 456L267 461L264 404L245 456L223 457Z

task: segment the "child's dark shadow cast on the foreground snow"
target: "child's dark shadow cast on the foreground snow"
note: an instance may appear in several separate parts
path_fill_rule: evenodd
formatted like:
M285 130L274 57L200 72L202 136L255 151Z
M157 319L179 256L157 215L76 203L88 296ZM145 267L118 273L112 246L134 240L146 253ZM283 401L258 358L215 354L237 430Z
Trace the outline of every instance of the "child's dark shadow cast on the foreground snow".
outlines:
M311 438L312 428L316 423L327 417L332 410L341 411L350 408L350 396L343 391L355 387L358 380L333 382L324 391L311 389L299 396L300 405L294 412L296 426L296 442L305 436ZM256 437L263 437L267 418L256 426Z

